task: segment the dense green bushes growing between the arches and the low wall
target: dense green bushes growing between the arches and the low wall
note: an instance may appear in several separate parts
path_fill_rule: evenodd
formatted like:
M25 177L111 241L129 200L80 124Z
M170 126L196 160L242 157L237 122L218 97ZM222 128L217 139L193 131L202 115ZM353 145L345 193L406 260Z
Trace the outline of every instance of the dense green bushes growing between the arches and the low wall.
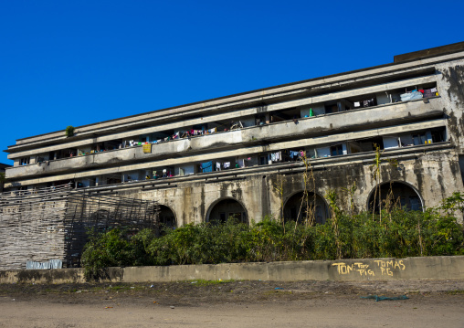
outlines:
M462 217L464 194L455 193L425 212L394 206L374 216L370 211L345 213L334 192L327 199L332 217L324 225L282 224L265 217L249 226L232 220L189 224L165 229L161 237L149 229L91 234L82 264L86 277L94 279L103 268L115 266L464 254L463 231L455 217Z

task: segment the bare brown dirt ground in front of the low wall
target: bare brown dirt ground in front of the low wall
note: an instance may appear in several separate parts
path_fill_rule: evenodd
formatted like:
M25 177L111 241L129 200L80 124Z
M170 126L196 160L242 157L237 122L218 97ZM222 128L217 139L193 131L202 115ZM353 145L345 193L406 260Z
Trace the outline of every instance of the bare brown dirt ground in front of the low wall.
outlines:
M0 285L0 327L219 325L464 327L464 280Z

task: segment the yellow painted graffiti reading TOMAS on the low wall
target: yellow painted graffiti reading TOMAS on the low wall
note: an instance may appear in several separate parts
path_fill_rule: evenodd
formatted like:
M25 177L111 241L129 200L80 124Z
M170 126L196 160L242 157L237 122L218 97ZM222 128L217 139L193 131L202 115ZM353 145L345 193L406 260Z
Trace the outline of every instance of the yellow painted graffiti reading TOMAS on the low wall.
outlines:
M373 263L366 264L363 262L354 262L347 264L344 262L333 263L332 267L337 268L337 273L340 275L346 274L359 274L361 276L391 276L393 277L394 272L405 270L406 266L403 259L374 259Z

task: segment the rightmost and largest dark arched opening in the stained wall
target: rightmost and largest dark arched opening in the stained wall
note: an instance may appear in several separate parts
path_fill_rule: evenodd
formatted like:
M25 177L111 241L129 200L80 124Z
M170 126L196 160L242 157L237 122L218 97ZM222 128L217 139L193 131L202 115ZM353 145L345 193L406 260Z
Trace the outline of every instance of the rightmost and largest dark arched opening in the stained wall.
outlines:
M368 206L370 210L375 207L377 212L380 206L382 208L401 206L406 210L420 211L423 204L421 197L413 187L402 182L391 181L374 188L369 197Z

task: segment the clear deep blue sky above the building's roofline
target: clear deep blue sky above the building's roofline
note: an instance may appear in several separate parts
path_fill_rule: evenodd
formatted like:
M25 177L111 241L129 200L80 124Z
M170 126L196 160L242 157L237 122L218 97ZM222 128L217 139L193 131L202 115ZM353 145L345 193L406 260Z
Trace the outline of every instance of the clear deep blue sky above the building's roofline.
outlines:
M464 41L464 1L0 1L16 139L390 63ZM0 163L12 164L6 153Z

